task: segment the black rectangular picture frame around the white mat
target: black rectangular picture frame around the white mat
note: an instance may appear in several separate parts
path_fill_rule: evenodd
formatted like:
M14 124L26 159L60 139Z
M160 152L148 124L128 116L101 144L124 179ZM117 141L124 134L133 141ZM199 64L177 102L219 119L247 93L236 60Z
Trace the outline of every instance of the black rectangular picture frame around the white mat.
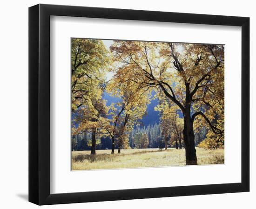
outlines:
M242 27L241 183L50 194L50 16ZM38 205L249 191L249 18L39 4L29 8L29 202Z

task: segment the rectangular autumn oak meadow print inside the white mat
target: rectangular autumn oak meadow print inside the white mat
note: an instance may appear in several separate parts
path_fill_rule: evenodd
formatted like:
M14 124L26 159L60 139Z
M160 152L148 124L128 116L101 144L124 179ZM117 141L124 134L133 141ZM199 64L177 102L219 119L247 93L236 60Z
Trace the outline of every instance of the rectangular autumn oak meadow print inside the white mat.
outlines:
M71 38L71 170L224 163L224 45Z

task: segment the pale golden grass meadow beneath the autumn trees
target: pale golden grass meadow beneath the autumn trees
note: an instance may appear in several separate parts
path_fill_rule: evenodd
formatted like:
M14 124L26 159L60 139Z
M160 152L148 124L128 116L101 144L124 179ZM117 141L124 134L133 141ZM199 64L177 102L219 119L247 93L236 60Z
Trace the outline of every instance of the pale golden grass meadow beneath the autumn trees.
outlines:
M168 150L156 149L129 149L121 150L121 154L111 155L111 150L96 150L95 156L90 151L72 151L72 170L120 169L141 167L164 167L185 165L185 149ZM223 164L223 149L196 148L199 165Z

